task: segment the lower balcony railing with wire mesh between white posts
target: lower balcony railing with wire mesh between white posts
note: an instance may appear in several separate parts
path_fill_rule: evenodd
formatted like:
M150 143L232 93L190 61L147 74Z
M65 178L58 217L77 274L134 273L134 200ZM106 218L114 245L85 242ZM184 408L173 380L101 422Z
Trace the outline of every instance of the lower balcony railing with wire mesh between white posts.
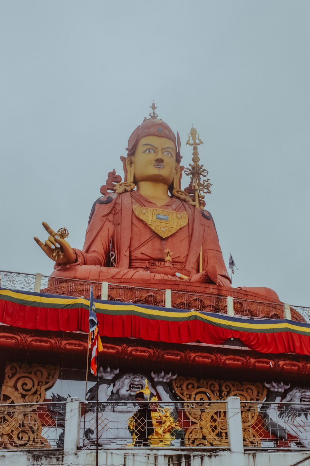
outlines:
M310 403L108 401L0 404L0 451L310 450Z

